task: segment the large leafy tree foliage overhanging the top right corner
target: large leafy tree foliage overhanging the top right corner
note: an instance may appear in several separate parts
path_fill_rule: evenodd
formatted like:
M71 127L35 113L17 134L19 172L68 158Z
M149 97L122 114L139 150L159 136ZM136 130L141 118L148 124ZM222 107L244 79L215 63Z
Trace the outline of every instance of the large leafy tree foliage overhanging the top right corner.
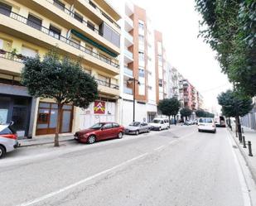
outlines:
M222 71L236 89L256 95L255 0L195 1L203 17L200 36L217 52Z

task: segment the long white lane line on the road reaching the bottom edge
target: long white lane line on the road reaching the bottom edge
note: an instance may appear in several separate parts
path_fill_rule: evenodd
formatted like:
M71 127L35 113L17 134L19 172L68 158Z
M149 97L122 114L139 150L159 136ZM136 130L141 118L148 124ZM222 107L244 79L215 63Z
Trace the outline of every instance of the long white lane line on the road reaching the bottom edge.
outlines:
M45 199L49 199L49 198L55 196L56 194L60 194L60 193L65 192L65 191L68 190L68 189L75 188L76 186L78 186L78 185L80 185L80 184L84 184L85 182L87 182L87 181L89 181L89 180L92 180L92 179L94 179L94 178L96 178L96 177L99 177L100 175L104 175L104 174L106 174L106 173L108 173L108 172L110 172L110 171L112 171L112 170L116 170L116 169L118 169L119 167L122 167L123 165L127 165L128 163L131 163L132 161L138 160L138 159L140 159L140 158L142 158L142 157L144 157L144 156L147 156L148 154L149 154L149 153L144 153L144 154L142 154L141 156L136 156L136 157L134 157L134 158L132 158L132 159L130 159L130 160L126 160L126 161L124 161L123 163L121 163L121 164L119 164L119 165L115 165L114 167L109 168L108 170L101 171L101 172L99 172L99 173L97 173L97 174L95 174L95 175L92 175L92 176L89 176L89 177L85 178L84 180L80 180L80 181L78 181L78 182L75 182L74 184L70 184L70 185L66 186L65 188L56 190L55 192L52 192L52 193L50 193L50 194L46 194L46 195L44 195L44 196L42 196L42 197L40 197L40 198L33 199L33 200L31 200L31 201L29 201L29 202L27 202L27 203L19 204L19 206L28 206L28 205L31 205L31 204L39 203L39 202L41 202L41 201L43 201L43 200L45 200Z

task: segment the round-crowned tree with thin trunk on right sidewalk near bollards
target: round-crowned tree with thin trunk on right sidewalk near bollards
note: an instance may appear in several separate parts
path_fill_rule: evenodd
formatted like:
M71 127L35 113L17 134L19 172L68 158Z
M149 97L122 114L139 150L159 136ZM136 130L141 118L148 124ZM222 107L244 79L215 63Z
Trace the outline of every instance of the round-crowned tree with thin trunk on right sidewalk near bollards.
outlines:
M254 107L252 99L249 96L245 97L244 94L241 95L237 91L227 90L225 93L220 93L218 102L222 106L222 113L226 117L235 117L235 124L239 132L239 140L241 140L239 117L243 117Z

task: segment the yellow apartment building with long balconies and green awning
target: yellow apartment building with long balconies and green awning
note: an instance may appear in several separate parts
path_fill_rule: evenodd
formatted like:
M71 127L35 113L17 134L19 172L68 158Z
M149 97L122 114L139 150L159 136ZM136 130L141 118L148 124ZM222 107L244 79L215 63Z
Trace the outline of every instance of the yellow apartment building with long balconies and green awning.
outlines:
M81 58L98 82L99 99L88 109L65 105L60 131L75 132L94 122L117 121L120 33L118 12L103 0L0 0L0 122L14 121L20 136L56 130L53 99L32 98L20 84L24 56ZM94 109L102 109L99 113Z

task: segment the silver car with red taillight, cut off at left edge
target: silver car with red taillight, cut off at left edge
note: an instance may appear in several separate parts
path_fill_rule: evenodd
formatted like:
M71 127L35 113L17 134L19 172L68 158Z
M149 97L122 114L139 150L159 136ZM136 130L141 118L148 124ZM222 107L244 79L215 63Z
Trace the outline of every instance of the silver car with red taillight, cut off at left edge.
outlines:
M13 151L18 145L17 134L12 129L12 122L0 125L0 158L7 152Z

